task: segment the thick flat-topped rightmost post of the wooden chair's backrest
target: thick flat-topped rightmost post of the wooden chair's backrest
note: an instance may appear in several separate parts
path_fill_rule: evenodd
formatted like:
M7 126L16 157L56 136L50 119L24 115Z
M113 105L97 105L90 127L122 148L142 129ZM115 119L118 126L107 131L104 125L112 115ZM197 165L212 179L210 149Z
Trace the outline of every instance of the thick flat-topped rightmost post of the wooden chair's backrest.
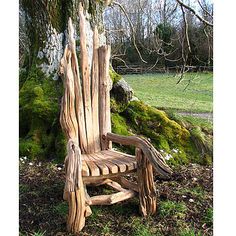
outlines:
M111 48L110 46L101 46L98 49L99 56L99 125L101 135L101 149L106 150L111 148L111 142L102 139L103 135L111 132L111 117L110 117L110 83L109 83L109 60Z

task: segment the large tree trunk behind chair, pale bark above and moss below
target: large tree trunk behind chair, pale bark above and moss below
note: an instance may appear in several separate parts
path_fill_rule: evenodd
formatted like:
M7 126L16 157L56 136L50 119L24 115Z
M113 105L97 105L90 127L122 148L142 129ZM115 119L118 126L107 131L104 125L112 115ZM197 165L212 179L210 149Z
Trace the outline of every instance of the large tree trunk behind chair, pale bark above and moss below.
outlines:
M79 3L85 9L88 64L91 69L93 28L98 46L105 44L103 1L20 0L20 156L63 160L66 139L59 124L62 82L58 75L69 17L79 45ZM80 48L76 48L79 53Z

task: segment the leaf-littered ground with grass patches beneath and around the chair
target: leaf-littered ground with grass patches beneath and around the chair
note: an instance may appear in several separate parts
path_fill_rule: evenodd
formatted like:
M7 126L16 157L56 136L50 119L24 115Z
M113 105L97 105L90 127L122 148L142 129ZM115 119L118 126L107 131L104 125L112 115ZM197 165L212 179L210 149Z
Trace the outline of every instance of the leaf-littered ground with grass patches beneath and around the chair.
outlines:
M20 160L20 235L71 235L66 232L68 205L63 201L64 167ZM138 198L112 206L92 206L80 235L92 236L209 236L213 235L212 167L174 167L169 181L155 177L157 214L140 216ZM132 177L132 176L131 176ZM130 178L131 178L130 177ZM88 188L107 194L108 187Z

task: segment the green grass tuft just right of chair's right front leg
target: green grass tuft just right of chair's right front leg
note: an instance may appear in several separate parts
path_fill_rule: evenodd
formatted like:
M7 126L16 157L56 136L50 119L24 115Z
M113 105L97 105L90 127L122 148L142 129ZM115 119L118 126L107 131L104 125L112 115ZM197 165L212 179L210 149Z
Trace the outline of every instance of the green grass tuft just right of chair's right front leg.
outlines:
M185 218L187 207L184 203L178 203L174 201L160 202L159 214L161 217L174 216L179 219Z

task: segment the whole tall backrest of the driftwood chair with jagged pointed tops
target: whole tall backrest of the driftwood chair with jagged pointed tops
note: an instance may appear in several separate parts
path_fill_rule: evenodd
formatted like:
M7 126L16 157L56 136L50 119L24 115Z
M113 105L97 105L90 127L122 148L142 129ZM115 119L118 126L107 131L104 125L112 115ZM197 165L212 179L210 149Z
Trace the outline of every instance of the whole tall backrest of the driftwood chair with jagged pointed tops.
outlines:
M64 87L68 90L65 90L63 97L64 104L62 104L60 116L62 127L68 139L78 142L82 153L94 153L109 149L111 143L103 140L102 135L111 131L110 46L99 47L98 31L95 27L92 64L89 65L85 17L80 11L81 73L79 73L76 45L73 38L74 28L71 20L69 20L68 31L69 44L61 61L65 75Z

